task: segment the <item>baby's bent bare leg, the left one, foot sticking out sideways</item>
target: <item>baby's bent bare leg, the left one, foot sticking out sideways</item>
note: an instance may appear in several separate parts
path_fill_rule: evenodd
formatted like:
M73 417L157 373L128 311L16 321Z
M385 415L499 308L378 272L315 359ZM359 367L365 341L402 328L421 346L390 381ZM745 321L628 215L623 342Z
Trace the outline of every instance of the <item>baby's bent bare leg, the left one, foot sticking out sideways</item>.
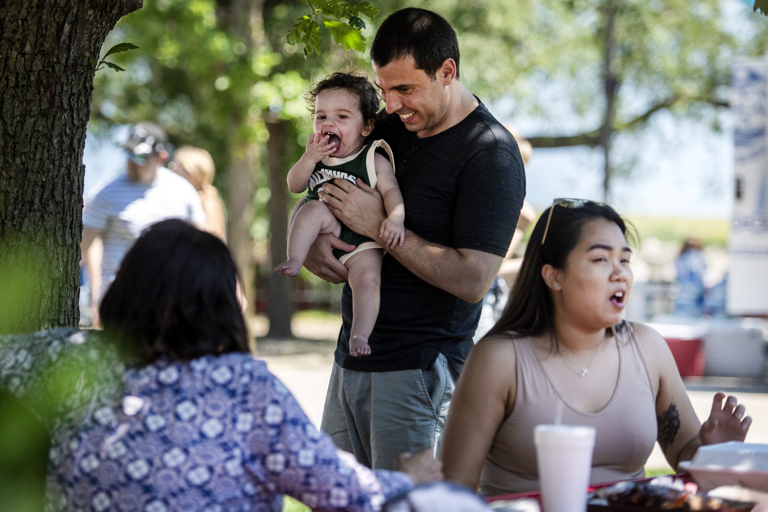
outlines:
M296 277L306 259L306 253L319 234L341 234L341 223L322 201L307 201L293 219L288 233L288 260L275 267L283 276Z

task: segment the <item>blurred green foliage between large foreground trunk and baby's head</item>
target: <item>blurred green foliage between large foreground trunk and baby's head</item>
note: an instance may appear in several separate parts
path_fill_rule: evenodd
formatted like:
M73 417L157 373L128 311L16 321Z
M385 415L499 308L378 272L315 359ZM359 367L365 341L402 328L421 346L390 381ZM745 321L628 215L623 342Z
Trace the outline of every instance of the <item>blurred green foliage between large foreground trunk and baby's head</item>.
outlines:
M114 55L126 73L95 78L89 127L103 134L114 124L157 121L177 147L190 144L212 154L214 185L225 192L231 145L263 145L269 137L263 118L271 114L290 121L286 161L298 160L312 130L303 99L307 86L339 66L365 63L330 38L322 41L323 58L304 59L300 48L286 42L293 20L306 14L305 5L266 2L263 20L257 20L263 26L253 27L263 31L261 43L253 48L223 25L219 9L214 0L145 0L143 8L122 18L104 47L131 41L140 49ZM327 28L322 31L328 33ZM270 183L266 151L260 154L251 235L264 245L269 239ZM222 196L226 200L227 194Z

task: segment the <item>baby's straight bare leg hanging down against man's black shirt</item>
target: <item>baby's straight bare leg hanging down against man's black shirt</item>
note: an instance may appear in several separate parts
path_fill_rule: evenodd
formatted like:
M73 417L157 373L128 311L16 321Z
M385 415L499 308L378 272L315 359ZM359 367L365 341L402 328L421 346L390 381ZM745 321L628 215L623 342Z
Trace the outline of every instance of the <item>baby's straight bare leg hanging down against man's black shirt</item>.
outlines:
M382 249L366 249L346 260L352 289L352 332L349 355L369 355L368 337L379 316L382 282Z

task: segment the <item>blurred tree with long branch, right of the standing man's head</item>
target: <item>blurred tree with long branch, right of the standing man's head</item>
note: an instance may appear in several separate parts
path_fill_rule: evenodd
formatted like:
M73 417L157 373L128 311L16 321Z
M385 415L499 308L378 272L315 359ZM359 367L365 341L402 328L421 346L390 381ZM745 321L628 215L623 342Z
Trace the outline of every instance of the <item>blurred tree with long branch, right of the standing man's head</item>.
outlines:
M534 116L534 147L601 147L603 193L632 162L611 148L661 111L707 118L729 101L730 65L765 55L764 20L728 26L721 0L427 0L462 48L462 81L484 100L513 97ZM492 48L492 51L488 51Z

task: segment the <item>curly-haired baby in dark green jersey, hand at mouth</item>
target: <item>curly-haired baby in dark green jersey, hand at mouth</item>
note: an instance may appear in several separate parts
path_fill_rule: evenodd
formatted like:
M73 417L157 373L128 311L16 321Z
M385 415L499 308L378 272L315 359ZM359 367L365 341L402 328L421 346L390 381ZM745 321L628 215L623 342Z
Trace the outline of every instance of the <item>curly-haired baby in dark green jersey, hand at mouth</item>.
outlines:
M334 73L315 84L308 99L314 116L313 134L306 142L306 151L288 172L288 188L293 193L307 187L310 190L288 233L288 260L276 266L275 272L298 276L319 234L333 233L356 246L351 253L339 249L333 253L349 269L353 309L349 354L369 355L368 337L379 315L382 246L339 222L319 200L317 191L323 183L336 178L352 183L361 178L379 190L387 213L379 230L383 246L402 246L405 241L406 207L395 179L389 145L384 140L366 142L379 111L379 94L370 82L357 74Z

